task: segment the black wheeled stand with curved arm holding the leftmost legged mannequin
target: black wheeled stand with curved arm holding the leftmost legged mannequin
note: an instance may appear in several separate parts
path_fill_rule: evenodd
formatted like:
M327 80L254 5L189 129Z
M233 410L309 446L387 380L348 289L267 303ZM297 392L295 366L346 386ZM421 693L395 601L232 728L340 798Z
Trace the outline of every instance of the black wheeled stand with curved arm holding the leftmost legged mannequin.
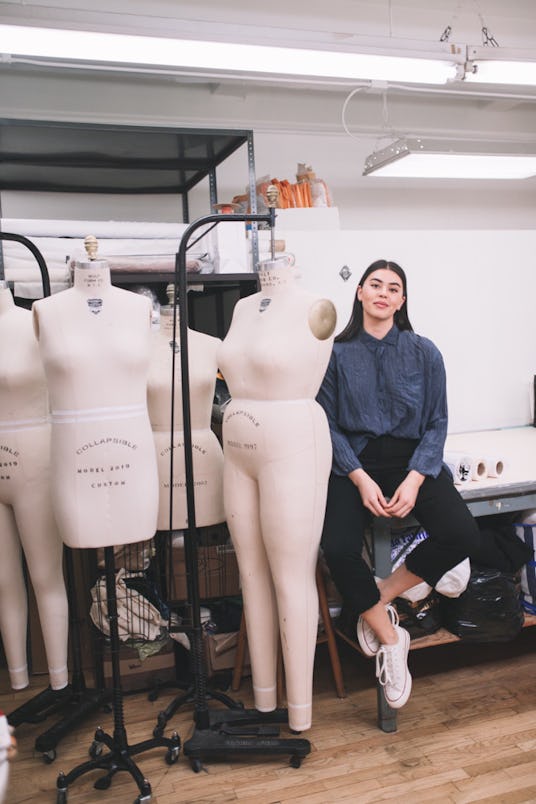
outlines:
M35 257L43 285L43 296L50 296L48 269L43 255L37 246L23 235L0 232L0 240L13 240L26 246ZM1 277L0 277L1 278ZM82 650L80 644L80 620L74 590L74 566L70 549L63 548L65 559L65 584L69 606L69 641L72 649L71 682L61 690L50 686L14 709L7 716L9 723L16 727L22 723L42 723L52 715L61 713L62 718L35 740L35 750L42 753L47 763L56 758L59 741L88 715L105 705L109 694L104 690L88 689L82 670Z

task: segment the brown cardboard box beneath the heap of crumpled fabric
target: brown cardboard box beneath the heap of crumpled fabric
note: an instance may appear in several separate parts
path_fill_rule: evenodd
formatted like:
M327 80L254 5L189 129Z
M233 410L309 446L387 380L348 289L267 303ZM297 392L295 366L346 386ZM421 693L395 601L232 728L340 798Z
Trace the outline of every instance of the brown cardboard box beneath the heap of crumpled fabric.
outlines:
M170 639L159 653L147 656L143 660L140 659L136 649L121 645L119 667L121 687L125 692L150 689L157 680L161 683L173 681L176 677L173 640ZM113 681L112 658L108 647L104 650L103 671L104 684L106 687L111 687Z

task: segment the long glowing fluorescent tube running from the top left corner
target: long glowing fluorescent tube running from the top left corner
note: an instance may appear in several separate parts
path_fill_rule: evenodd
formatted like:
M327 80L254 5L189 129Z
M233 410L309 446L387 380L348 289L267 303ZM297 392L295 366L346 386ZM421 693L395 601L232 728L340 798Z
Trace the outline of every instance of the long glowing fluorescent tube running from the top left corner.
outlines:
M226 73L258 78L269 74L281 80L396 80L418 84L444 84L459 75L458 65L463 62L459 51L455 55L452 48L444 46L425 51L421 43L421 50L385 55L355 47L313 50L0 25L3 61L46 59L52 64L67 60L73 66L146 65L186 75ZM46 64L44 61L43 66Z

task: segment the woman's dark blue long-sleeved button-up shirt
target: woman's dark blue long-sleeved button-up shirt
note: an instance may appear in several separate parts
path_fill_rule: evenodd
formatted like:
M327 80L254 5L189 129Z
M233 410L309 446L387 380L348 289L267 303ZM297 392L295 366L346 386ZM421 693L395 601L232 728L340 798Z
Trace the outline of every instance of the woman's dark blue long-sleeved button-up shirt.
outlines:
M333 472L361 467L371 438L390 435L419 443L408 471L437 477L447 436L447 393L439 349L395 325L378 340L364 330L335 343L318 402L326 411L333 443Z

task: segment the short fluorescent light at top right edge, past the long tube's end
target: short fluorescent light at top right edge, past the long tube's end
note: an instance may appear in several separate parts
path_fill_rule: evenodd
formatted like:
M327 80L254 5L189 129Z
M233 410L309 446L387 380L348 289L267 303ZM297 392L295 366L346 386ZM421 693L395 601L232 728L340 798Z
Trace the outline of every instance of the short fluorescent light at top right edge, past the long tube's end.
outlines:
M536 53L502 47L468 47L465 80L536 86Z

